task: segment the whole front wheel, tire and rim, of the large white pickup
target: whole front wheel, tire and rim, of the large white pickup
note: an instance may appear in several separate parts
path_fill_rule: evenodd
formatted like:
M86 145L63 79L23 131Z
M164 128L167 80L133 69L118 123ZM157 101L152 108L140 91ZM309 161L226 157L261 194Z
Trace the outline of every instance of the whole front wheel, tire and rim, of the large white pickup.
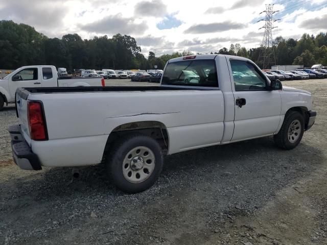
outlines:
M304 133L304 118L297 111L286 113L281 130L274 135L275 144L282 149L291 150L301 141Z

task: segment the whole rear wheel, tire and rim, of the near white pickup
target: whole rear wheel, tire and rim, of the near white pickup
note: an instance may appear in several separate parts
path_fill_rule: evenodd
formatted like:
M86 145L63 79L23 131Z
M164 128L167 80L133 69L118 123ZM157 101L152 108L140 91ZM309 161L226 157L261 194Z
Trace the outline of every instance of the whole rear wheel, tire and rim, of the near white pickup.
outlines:
M161 173L163 162L161 147L155 139L133 134L115 145L107 167L118 188L137 193L154 184Z

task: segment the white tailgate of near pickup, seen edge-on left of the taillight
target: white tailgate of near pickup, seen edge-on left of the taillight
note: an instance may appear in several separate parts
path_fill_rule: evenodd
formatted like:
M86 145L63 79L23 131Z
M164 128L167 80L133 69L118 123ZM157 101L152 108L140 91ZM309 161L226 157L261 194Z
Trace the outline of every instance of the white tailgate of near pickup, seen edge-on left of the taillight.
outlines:
M29 92L25 89L18 88L16 90L16 112L22 136L26 142L31 145L30 131L27 119L27 102Z

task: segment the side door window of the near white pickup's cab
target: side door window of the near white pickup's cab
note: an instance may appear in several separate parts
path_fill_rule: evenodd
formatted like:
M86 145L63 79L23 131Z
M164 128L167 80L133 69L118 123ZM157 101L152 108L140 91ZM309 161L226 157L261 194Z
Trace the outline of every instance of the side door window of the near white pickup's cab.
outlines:
M266 90L266 79L253 64L243 60L230 60L230 66L236 91Z

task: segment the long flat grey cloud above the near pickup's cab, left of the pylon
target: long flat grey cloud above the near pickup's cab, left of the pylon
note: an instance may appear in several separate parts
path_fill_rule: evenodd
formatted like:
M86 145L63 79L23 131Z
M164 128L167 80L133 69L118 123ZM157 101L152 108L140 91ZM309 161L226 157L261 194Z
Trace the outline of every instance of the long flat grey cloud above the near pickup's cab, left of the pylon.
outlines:
M209 23L209 24L195 24L194 26L186 29L186 34L201 34L201 33L213 33L223 32L228 30L243 29L247 25L243 23L235 23L230 21L224 21L221 23Z

